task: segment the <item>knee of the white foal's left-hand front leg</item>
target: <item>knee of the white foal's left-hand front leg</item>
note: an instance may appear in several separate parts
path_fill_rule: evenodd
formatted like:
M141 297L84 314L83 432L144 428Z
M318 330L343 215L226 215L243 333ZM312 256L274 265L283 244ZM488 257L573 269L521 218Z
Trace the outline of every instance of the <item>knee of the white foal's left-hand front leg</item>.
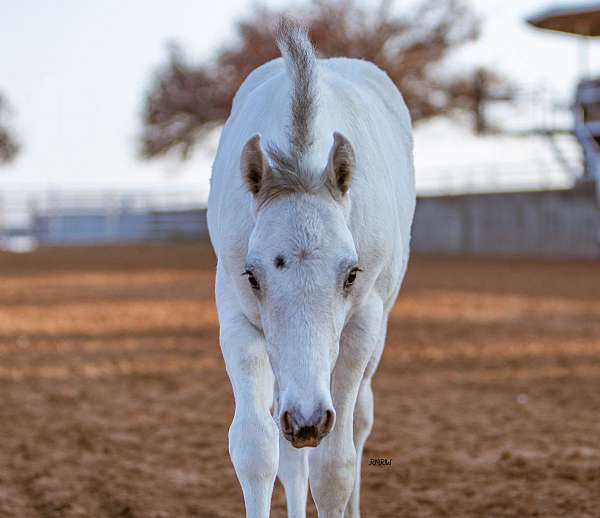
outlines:
M278 465L279 431L273 418L236 416L229 428L229 456L238 477L274 479Z

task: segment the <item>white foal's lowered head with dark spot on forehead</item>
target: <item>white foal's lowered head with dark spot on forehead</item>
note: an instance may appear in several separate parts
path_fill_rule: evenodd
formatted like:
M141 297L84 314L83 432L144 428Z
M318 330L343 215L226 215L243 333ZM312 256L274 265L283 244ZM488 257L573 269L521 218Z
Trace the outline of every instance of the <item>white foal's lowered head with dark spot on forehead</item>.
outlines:
M334 135L319 173L260 137L244 146L241 169L256 223L244 274L256 296L279 394L282 433L317 446L334 426L330 385L360 265L347 222L354 151Z

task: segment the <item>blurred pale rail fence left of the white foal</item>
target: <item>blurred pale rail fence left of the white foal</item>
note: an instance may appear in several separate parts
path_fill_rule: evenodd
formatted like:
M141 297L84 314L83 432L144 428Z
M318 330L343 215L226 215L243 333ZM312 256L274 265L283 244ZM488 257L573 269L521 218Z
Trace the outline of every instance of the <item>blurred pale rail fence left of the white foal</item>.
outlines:
M204 199L194 190L2 192L0 247L203 237Z

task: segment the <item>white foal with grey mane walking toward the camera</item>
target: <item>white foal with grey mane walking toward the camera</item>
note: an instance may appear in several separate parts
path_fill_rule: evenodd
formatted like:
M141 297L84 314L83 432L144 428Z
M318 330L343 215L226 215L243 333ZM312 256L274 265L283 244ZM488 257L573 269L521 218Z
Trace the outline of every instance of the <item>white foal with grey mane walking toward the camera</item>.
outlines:
M269 515L278 476L289 516L306 516L310 482L320 517L354 517L409 256L410 116L375 65L317 59L289 20L276 34L283 59L237 92L208 202L229 453L247 516Z

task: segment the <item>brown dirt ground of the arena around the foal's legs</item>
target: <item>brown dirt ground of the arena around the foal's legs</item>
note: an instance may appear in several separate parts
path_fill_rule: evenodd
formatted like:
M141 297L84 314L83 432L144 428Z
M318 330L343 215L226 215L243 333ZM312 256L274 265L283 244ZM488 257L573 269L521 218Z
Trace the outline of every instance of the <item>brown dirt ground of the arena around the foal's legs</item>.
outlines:
M0 517L242 516L213 270L0 254ZM365 517L600 516L600 263L413 258L374 388Z

